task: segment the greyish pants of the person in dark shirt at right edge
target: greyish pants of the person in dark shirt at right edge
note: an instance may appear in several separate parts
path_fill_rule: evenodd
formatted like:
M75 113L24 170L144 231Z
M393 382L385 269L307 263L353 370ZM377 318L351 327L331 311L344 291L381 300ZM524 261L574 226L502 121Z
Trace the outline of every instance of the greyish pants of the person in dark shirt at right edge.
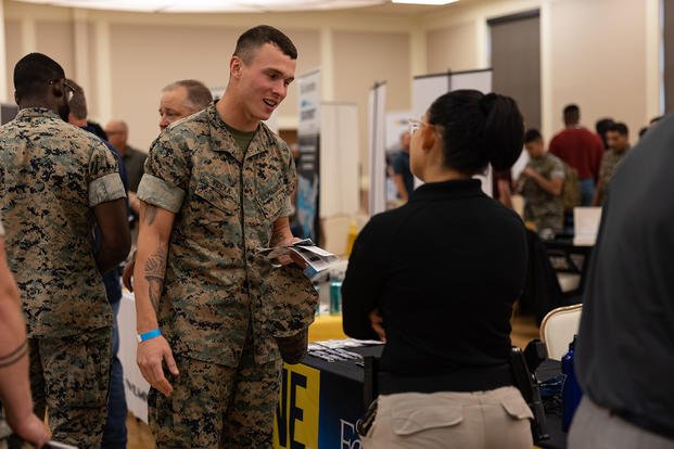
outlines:
M674 449L674 440L645 431L583 397L569 431L571 449Z

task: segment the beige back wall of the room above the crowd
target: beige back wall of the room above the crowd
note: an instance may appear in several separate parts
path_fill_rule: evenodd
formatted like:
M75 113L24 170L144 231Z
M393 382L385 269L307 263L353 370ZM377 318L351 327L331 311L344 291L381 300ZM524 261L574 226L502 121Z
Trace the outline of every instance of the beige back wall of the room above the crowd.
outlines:
M486 21L532 9L541 10L546 138L561 128L561 108L569 102L581 105L587 126L605 115L626 121L633 140L659 114L659 0L465 0L422 15L373 14L371 9L131 14L2 1L7 98L13 97L16 61L29 51L49 53L69 76L85 79L78 81L94 118L125 118L131 142L145 149L158 130L161 88L186 77L212 86L227 82L236 37L259 23L278 26L295 40L297 74L327 67L326 100L358 104L364 172L365 105L374 81L389 84L389 111L409 110L412 75L487 67ZM86 26L78 27L81 23ZM279 110L281 128L296 126L295 102L291 88Z

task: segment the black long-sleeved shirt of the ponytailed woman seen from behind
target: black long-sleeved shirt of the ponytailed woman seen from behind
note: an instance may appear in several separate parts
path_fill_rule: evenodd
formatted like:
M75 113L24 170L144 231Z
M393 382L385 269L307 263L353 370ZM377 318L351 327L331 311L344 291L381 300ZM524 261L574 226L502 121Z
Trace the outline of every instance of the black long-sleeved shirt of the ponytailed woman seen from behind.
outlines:
M379 309L387 338L380 368L394 374L499 367L525 272L517 214L476 180L427 183L359 233L342 286L344 331L377 338L368 313Z

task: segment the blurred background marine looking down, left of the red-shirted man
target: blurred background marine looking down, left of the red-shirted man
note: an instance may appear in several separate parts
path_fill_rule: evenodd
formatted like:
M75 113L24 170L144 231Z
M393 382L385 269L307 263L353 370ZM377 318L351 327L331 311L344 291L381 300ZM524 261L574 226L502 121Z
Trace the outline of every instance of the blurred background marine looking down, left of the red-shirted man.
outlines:
M517 191L524 198L524 220L533 222L538 232L544 229L561 232L564 226L561 200L564 165L559 157L545 151L543 136L537 129L526 131L524 147L530 159L516 182Z

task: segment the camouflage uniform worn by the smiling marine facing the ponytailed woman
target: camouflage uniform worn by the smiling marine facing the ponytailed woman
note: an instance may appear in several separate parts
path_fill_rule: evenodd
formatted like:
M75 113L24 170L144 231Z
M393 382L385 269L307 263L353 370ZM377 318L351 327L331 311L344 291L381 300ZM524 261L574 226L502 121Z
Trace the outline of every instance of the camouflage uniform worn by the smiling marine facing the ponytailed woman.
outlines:
M157 318L180 371L170 398L150 392L160 447L271 447L275 335L306 328L316 302L296 268L285 269L300 273L289 296L304 307L282 300L290 282L256 249L290 215L295 179L282 140L260 124L242 151L215 104L152 144L138 197L176 215Z

